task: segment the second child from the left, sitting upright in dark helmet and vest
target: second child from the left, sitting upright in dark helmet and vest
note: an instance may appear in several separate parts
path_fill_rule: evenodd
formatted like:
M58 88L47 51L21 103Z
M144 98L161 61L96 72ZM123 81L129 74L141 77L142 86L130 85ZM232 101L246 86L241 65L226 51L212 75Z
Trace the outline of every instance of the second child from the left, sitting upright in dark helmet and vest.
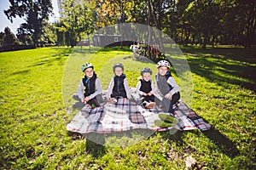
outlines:
M126 81L124 74L124 65L119 63L113 65L113 73L114 77L111 78L108 86L108 101L116 104L120 98L131 99L128 82Z

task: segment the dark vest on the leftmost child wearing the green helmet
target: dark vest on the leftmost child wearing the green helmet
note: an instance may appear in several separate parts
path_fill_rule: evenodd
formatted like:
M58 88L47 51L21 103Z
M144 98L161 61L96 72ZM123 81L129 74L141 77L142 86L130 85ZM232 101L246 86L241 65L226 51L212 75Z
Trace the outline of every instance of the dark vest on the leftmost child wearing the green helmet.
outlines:
M96 82L96 73L93 72L93 76L88 78L84 76L83 83L84 83L84 97L89 96L90 94L95 93L95 82Z

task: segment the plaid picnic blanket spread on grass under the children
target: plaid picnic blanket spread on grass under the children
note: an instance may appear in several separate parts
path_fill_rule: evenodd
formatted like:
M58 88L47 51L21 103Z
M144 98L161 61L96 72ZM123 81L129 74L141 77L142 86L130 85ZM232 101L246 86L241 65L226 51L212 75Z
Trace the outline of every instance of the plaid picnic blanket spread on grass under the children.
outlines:
M177 130L198 128L201 131L210 129L211 125L182 101L174 107L175 112L172 116L177 118L177 125L163 128L154 125L155 120L160 120L158 114L162 112L157 106L154 109L144 109L142 105L136 105L125 98L119 99L115 105L107 103L94 109L90 105L85 105L83 110L87 109L90 114L83 115L83 112L79 111L72 122L67 124L67 130L76 133L114 133L137 128L153 131L166 131L173 128Z

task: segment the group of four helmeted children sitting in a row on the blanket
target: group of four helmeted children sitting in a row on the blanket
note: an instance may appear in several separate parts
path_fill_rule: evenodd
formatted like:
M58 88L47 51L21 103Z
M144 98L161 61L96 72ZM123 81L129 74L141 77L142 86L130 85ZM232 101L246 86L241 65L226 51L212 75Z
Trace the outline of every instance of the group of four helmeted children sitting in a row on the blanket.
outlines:
M151 79L152 71L145 67L141 71L141 77L137 82L137 93L142 97L142 104L145 108L153 108L155 105L154 94L162 96L161 105L166 112L173 113L172 105L180 99L179 87L169 71L170 63L166 60L160 60L157 63L157 74L155 75L155 88ZM102 84L96 76L94 66L91 63L82 65L84 77L80 81L77 93L73 99L78 99L84 104L95 107L100 106L102 102ZM113 65L114 76L108 86L107 100L116 104L119 99L126 98L131 100L131 92L124 74L124 65L117 63Z

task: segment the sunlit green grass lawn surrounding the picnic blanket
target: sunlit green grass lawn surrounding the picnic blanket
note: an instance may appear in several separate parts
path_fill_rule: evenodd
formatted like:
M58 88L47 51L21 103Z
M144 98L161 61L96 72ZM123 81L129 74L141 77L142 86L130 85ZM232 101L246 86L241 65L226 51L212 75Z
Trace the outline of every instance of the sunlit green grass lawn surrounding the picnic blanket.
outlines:
M191 107L212 129L154 133L128 147L73 140L66 130L75 113L67 114L66 108L73 103L84 61L95 65L104 89L115 62L125 65L133 87L143 66L156 71L148 60L133 61L129 48L97 50L0 53L0 169L184 169L188 156L196 160L195 169L256 166L255 50L183 47L193 77Z

